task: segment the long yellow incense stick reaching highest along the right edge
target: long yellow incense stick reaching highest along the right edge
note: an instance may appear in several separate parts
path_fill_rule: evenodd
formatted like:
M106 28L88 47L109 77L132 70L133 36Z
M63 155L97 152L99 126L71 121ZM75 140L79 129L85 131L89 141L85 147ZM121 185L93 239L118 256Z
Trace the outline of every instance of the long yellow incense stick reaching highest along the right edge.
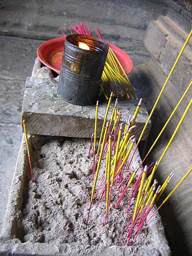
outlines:
M172 76L172 73L173 73L174 69L176 68L177 63L178 63L178 61L180 60L180 57L181 57L181 55L182 55L182 53L183 53L183 51L184 51L184 49L185 49L187 43L189 42L191 35L192 35L192 30L191 30L191 32L189 33L189 35L188 35L188 37L187 37L185 43L183 44L183 47L182 47L182 49L181 49L179 55L177 56L177 59L176 59L176 61L174 62L173 67L172 67L172 69L170 70L169 75L168 75L168 77L166 78L166 80L165 80L165 82L164 82L164 85L162 86L162 89L161 89L160 93L158 94L158 97L157 97L157 99L156 99L156 101L155 101L155 104L153 105L153 108L152 108L152 110L151 110L151 113L149 114L149 117L147 118L147 122L145 123L145 125L144 125L144 127L143 127L143 130L141 131L141 134L140 134L140 137L139 137L137 143L139 143L139 142L141 141L141 138L143 137L143 134L144 134L144 132L145 132L147 126L148 126L148 123L149 123L149 121L150 121L150 119L151 119L151 117L152 117L152 114L153 114L153 112L154 112L154 110L155 110L155 108L156 108L156 106L157 106L157 104L158 104L158 101L160 100L160 97L161 97L162 93L164 92L164 89L165 89L166 85L168 84L168 81L169 81L169 79L170 79L170 76Z

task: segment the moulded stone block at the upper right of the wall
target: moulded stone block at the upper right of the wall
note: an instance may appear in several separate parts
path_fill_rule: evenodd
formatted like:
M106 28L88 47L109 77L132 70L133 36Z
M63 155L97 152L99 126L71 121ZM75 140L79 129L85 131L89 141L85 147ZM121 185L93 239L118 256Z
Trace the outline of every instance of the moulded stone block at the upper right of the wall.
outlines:
M173 67L190 29L190 20L173 10L169 11L166 16L160 16L156 21L149 22L145 46L166 76ZM178 61L171 80L181 87L189 84L191 67L192 40L190 39ZM178 86L178 89L180 86Z

